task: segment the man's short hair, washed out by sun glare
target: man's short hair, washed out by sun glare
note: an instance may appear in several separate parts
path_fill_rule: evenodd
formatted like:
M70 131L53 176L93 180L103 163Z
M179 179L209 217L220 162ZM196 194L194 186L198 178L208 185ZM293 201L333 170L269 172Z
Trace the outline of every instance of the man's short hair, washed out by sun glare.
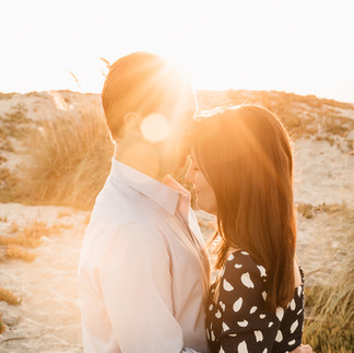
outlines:
M102 91L106 121L114 140L119 137L129 113L142 117L160 113L170 118L191 102L196 104L186 74L165 59L144 51L114 62Z

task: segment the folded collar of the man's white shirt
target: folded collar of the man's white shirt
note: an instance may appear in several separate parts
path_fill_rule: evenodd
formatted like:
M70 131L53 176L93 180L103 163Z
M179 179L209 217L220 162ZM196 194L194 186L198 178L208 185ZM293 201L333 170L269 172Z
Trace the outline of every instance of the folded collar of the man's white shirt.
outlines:
M163 183L160 183L116 158L111 158L110 176L156 202L172 215L176 212L180 197L190 201L189 191L173 177L166 176Z

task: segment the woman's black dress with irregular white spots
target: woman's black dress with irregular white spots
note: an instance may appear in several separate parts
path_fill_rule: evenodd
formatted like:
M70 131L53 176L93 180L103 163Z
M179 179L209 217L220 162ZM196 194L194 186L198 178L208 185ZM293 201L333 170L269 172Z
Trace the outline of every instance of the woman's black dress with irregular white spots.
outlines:
M298 346L304 322L302 269L300 273L303 283L288 306L274 314L264 311L266 269L248 252L233 252L209 291L206 337L211 351L285 353Z

